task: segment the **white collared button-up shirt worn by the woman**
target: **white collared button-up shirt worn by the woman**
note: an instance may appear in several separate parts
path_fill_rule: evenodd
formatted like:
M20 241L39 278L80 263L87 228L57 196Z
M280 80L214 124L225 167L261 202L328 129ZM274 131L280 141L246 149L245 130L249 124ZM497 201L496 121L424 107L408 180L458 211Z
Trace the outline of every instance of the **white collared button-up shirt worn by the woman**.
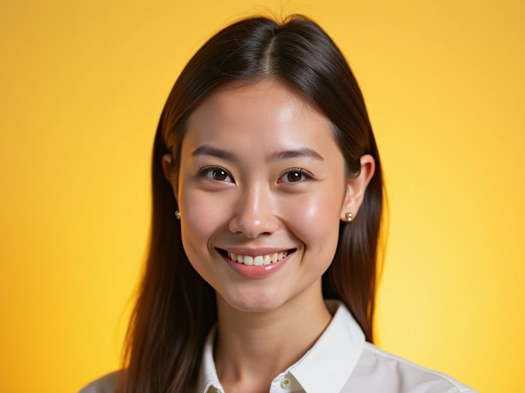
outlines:
M475 392L453 378L419 367L365 341L358 323L338 301L327 301L332 321L299 361L272 380L269 393ZM225 393L213 360L215 328L203 350L196 393Z

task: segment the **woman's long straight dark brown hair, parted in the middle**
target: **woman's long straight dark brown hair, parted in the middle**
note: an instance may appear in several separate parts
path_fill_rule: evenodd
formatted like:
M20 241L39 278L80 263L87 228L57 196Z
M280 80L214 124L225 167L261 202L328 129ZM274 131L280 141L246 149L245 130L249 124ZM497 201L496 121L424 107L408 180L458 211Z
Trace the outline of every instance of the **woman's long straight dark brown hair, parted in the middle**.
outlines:
M282 23L255 17L219 31L197 51L162 111L153 148L149 256L129 325L121 392L195 389L205 337L217 320L215 294L184 253L162 156L172 154L176 176L196 105L220 86L265 79L284 83L330 119L349 176L359 173L362 155L375 159L359 214L341 222L337 252L322 278L323 296L344 302L372 342L383 180L363 96L341 52L316 23L303 16Z

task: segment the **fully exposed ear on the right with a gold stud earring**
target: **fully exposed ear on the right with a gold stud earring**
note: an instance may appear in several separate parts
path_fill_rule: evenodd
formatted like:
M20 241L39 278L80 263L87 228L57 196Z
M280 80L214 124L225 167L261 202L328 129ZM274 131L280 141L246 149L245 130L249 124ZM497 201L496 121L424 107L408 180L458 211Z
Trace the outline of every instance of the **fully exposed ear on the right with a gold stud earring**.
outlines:
M361 172L356 178L349 178L346 183L346 195L343 205L341 206L340 218L342 221L348 221L347 213L352 213L355 217L358 214L361 203L363 202L364 192L370 179L374 175L375 161L370 154L361 156Z

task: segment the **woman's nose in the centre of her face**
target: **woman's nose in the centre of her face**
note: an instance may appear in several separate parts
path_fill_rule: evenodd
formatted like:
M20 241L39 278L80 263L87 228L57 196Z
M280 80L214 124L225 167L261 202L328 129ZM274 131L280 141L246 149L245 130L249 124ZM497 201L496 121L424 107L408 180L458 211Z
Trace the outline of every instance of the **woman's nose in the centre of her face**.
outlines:
M229 230L243 233L251 239L261 234L274 233L279 226L275 212L276 205L270 190L264 186L253 187L239 193Z

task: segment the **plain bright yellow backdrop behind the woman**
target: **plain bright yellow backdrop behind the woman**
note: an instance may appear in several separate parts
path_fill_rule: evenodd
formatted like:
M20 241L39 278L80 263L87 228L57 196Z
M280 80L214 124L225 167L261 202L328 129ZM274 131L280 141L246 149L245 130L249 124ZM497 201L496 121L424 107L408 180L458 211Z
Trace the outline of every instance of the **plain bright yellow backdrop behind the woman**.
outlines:
M219 27L304 13L341 47L382 154L377 341L483 392L525 386L525 2L2 1L0 391L118 367L169 90Z

